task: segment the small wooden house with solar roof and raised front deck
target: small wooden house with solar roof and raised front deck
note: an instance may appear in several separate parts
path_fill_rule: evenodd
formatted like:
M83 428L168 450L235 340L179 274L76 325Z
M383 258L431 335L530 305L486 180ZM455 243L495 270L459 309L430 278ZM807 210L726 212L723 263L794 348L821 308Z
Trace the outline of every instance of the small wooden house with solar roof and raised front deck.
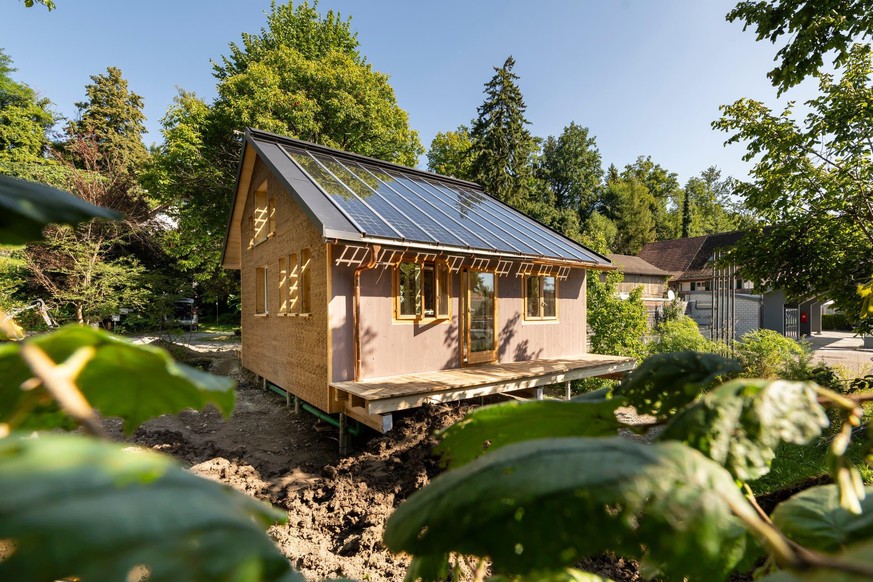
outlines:
M257 130L243 147L222 263L266 382L386 431L396 410L633 367L587 353L585 280L608 259L478 185Z

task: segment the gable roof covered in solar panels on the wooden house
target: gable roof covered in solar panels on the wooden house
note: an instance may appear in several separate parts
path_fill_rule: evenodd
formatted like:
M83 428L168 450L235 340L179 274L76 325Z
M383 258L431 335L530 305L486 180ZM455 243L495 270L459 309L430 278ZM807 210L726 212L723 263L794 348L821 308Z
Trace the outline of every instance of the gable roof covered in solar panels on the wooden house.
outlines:
M608 268L609 260L473 182L246 129L222 264L238 268L238 224L255 155L326 239L484 252Z

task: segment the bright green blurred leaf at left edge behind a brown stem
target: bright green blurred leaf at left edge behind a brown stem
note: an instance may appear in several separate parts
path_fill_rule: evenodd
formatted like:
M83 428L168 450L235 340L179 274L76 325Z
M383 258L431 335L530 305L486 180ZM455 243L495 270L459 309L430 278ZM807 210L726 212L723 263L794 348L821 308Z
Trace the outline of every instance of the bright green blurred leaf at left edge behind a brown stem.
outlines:
M233 410L236 393L229 378L207 374L185 364L156 347L134 345L106 332L68 326L31 340L61 363L81 347L96 351L76 379L79 389L106 416L120 416L124 429L132 433L150 418L188 408L214 404L225 416ZM19 344L0 347L0 419L8 420L25 399L32 398L18 388L31 377L21 359ZM33 391L35 392L35 391Z

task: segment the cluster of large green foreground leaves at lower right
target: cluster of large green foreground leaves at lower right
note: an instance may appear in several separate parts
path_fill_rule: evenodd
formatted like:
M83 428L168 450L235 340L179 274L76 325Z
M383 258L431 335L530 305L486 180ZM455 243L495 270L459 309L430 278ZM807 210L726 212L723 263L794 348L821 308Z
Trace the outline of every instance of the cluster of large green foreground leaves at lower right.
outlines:
M722 383L740 369L716 354L659 354L611 393L478 409L444 432L438 450L451 470L398 508L385 542L415 556L408 579L438 579L452 554L505 573L569 576L565 568L607 550L665 580L724 580L762 556L765 572L873 576L861 551L873 537L871 502L845 456L871 396L811 382ZM652 421L625 426L619 406ZM839 421L836 484L784 501L771 521L748 483L780 447L822 436L827 408ZM621 427L663 429L648 444L614 436Z

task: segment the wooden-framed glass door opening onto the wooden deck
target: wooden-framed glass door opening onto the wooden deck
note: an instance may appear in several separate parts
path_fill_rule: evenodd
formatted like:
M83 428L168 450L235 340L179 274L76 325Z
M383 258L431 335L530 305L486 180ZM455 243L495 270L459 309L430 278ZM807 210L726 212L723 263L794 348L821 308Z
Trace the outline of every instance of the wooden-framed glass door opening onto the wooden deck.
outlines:
M494 273L467 272L465 349L468 364L497 359L497 281Z

